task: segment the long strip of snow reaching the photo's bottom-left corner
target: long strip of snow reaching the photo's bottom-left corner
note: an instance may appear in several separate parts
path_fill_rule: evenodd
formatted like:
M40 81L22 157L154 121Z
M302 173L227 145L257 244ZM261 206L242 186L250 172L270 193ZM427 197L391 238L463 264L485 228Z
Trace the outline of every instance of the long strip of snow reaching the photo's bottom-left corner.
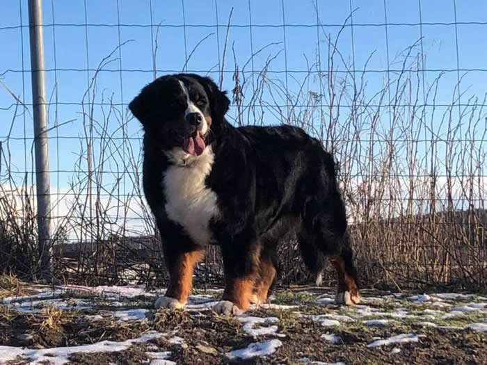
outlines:
M91 343L88 345L45 348L42 350L24 349L12 346L0 346L0 359L5 362L15 359L20 356L25 359L29 358L29 364L40 364L42 362L49 362L53 365L62 365L69 362L68 357L74 352L114 352L126 350L132 343L144 343L152 339L157 339L163 336L161 332L150 331L136 339L130 339L122 342L115 341L101 341Z

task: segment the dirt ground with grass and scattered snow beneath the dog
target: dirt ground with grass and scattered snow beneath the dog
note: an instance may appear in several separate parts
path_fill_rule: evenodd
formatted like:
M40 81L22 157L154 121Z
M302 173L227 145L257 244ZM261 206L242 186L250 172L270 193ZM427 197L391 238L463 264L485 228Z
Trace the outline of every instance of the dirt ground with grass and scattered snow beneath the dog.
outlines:
M22 287L0 299L0 364L487 364L487 298L472 293L280 289L237 317L221 289L154 311L136 286Z

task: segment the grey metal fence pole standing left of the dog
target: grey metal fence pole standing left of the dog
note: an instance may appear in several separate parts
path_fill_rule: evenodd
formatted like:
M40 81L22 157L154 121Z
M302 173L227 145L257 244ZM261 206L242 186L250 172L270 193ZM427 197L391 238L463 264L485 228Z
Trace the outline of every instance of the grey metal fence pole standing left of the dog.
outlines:
M35 182L37 188L40 269L42 277L47 279L51 274L51 197L49 188L49 151L47 148L42 0L29 0L29 34L31 40Z

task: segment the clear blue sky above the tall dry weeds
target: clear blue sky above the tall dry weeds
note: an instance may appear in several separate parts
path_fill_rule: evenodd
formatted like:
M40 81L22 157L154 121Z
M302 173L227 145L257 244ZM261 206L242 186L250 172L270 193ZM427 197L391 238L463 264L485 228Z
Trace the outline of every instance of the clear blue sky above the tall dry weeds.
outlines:
M61 136L58 140L51 140L49 146L51 170L72 170L80 150L75 138L83 131L79 103L88 82L93 77L93 70L120 42L129 41L120 49L121 59L115 59L106 66L107 70L97 76L97 93L94 98L95 102L101 102L102 91L105 101L106 96L111 95L113 103L122 104L120 110L125 115L126 104L145 83L152 80L152 53L157 25L161 24L156 59L158 76L182 70L185 55L190 53L195 44L208 36L189 60L187 70L200 73L212 70L209 74L218 79L218 70L223 65L226 24L232 8L232 27L228 44L233 44L237 63L241 67L250 57L252 50L256 51L269 43L278 43L255 57L254 68L260 70L266 58L278 55L271 63L270 70L275 72L273 77L283 83L284 71L287 70L287 86L291 92L296 92L298 81L303 80L303 71L306 70L305 56L310 60L315 58L318 40L322 68L326 69L325 34L334 38L351 9L355 10L353 26L350 26L349 22L337 47L347 62L352 63L355 60L357 70L364 67L365 60L373 51L375 53L369 63L369 70L388 70L388 58L390 68L399 67L399 64L394 64L397 55L420 39L418 24L421 15L423 48L426 55L424 65L426 70L432 70L422 74L426 86L431 85L439 70L446 70L439 86L437 102L451 103L458 77L457 62L460 69L468 70L461 83L462 91L466 90L462 100L466 102L471 95L482 97L487 90L487 2L483 0L456 3L449 0L387 0L385 6L383 0L319 0L319 35L317 14L313 2L308 0L152 0L152 15L150 1L147 0L45 0L43 3L48 98L54 90L56 80L58 86L58 104L49 108L49 127L54 126L56 116L59 124L73 120L59 127L56 134L51 133L51 137ZM456 27L453 24L455 6L458 22ZM387 27L384 25L386 17L389 24ZM282 27L283 18L286 27ZM253 24L251 29L250 22ZM21 24L24 25L23 28L19 27ZM26 0L2 2L0 80L17 97L29 104L31 79L29 72L21 72L30 68L27 24ZM183 24L186 24L185 29ZM119 53L116 51L114 58L118 56ZM86 71L87 68L90 70ZM344 70L344 66L338 65L337 69ZM232 90L232 47L227 49L224 70L226 73L223 88ZM247 70L250 70L250 66ZM367 74L369 93L381 88L385 75L387 74L384 72ZM267 102L270 103L269 100ZM0 140L6 140L14 118L14 105L10 92L0 87ZM230 116L232 115L234 109L230 111ZM283 122L271 113L268 115L267 121L270 124ZM101 116L102 111L98 107L95 117ZM112 124L111 127L113 125L116 124ZM31 113L22 114L17 111L10 133L10 151L13 152L10 167L13 172L17 171L19 176L23 176L24 171L32 170L29 153L31 140L22 139L24 136L31 138L32 130ZM129 136L140 136L139 130L135 120L129 122ZM4 178L5 174L6 165L3 161L0 178ZM55 188L65 186L71 176L70 172L60 172L52 178L51 184Z

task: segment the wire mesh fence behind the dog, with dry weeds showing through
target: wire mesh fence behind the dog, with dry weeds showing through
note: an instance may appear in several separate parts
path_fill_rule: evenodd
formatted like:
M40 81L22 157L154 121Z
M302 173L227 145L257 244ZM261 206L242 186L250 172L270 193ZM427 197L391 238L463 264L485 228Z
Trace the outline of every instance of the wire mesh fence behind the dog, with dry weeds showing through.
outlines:
M333 152L363 284L485 288L483 2L45 0L42 10L56 279L163 282L127 104L184 71L229 90L235 125L296 125ZM26 1L0 15L0 42L0 268L32 278L42 252ZM296 250L283 238L283 284L309 279ZM221 279L220 262L210 248L200 283Z

